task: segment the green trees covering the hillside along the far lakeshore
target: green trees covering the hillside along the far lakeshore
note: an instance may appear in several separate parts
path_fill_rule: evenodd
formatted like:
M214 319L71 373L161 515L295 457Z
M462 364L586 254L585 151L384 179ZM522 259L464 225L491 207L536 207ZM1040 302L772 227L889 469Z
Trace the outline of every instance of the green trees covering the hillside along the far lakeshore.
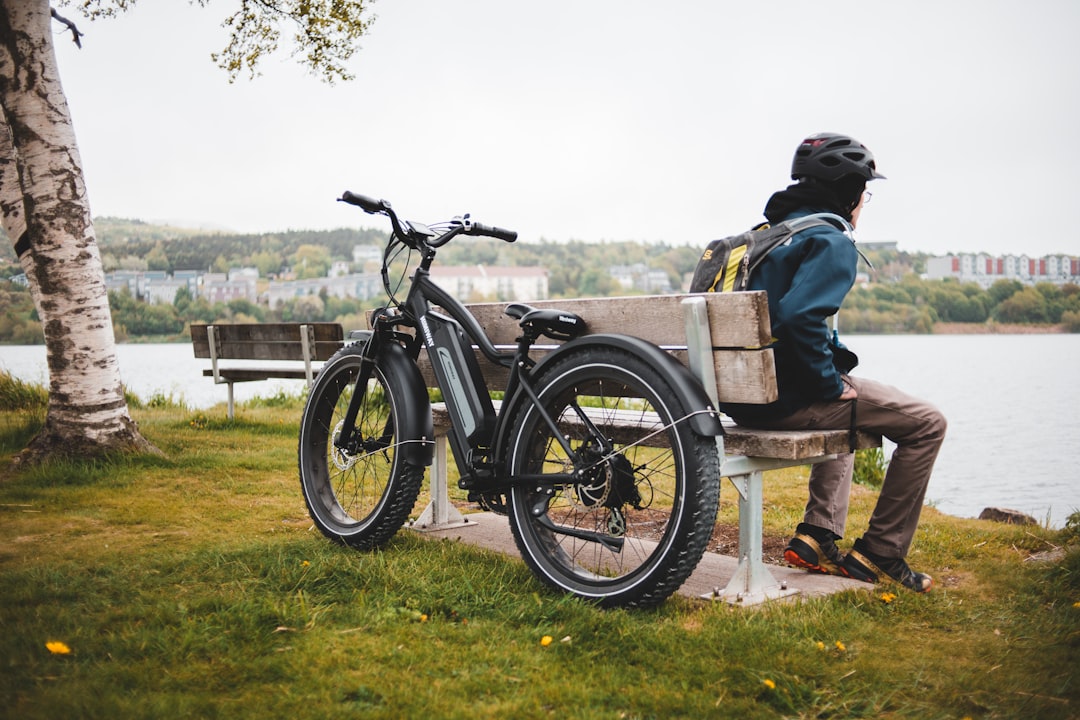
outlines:
M289 231L261 235L181 233L137 221L97 221L107 270L203 270L225 272L255 267L262 277L288 274L318 277L336 260L352 259L356 245L382 247L384 233L376 230ZM697 264L700 248L643 242L582 241L518 243L470 239L443 250L447 264L539 266L549 271L552 298L633 294L611 276L613 264L642 263L667 273L673 287L681 287ZM859 284L841 310L845 332L931 332L936 323L988 322L1061 325L1080 332L1080 287L1040 283L1025 286L998 281L989 288L954 280L923 280L919 272L928 256L877 250L870 259L880 270ZM356 271L373 271L355 267ZM14 257L0 258L0 279L15 276ZM469 298L500 300L503 298ZM109 302L118 339L181 339L191 323L214 322L338 322L363 326L363 315L380 299L335 298L325 294L296 298L274 308L249 300L210 303L181 289L172 304L150 304L129 293L110 293ZM29 293L0 281L0 342L42 342L41 324Z

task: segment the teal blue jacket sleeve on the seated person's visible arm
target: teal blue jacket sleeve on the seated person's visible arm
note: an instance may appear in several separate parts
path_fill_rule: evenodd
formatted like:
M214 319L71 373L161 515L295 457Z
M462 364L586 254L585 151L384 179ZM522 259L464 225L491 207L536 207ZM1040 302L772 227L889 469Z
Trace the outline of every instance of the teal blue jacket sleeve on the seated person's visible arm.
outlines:
M812 228L799 235L801 257L788 290L774 304L773 332L795 361L800 394L836 399L843 382L833 365L827 318L854 285L859 254L850 239L832 228Z

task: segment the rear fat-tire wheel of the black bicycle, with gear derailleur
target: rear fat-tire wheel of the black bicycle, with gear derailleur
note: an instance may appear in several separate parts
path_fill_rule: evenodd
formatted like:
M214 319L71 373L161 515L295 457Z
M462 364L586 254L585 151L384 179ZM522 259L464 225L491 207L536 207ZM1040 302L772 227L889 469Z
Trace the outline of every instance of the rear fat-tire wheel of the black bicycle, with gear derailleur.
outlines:
M648 607L700 561L719 461L714 439L681 422L688 408L667 369L609 347L545 368L535 390L569 448L535 405L517 411L511 476L530 481L511 492L511 527L548 585L607 607Z

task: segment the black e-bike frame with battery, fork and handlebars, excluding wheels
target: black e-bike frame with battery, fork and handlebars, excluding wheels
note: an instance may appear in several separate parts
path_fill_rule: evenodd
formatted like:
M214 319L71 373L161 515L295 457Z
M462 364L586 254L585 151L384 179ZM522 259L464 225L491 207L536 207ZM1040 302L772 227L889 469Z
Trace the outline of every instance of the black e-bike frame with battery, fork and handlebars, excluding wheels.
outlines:
M510 241L516 234L478 223L470 225L468 216L465 216L463 220L451 223L447 232L438 235L422 225L402 222L391 209L390 204L384 201L375 201L351 193L346 193L342 200L357 204L369 213L389 216L394 235L388 245L386 257L389 257L390 248L394 245L394 236L420 253L420 262L410 279L405 300L397 305L400 312L391 313L388 309L383 309L374 315L373 331L365 347L356 386L366 389L376 358L379 357L387 343L400 343L404 347L405 354L414 363L419 359L420 350L423 347L428 350L432 369L438 381L438 386L443 390L443 400L450 416L449 440L460 473L459 487L475 493L499 493L509 491L521 483L542 486L575 483L579 473L584 470L579 462L579 453L573 450L569 439L544 409L529 380L530 372L536 366L536 363L529 357L529 351L540 335L545 332L551 335L553 329L549 325L544 325L542 321L534 324L523 318L522 334L517 338L515 350L501 351L487 337L468 308L431 280L431 266L437 248L446 245L455 236L462 233L483 234ZM470 232L470 228L472 232ZM386 257L382 277L383 285L389 293L390 283ZM435 311L435 307L441 308L446 314ZM409 328L411 334L400 331L400 327ZM583 327L583 323L581 327ZM559 337L572 340L576 335L577 330ZM653 365L657 366L665 362L665 355L662 351L630 336L593 335L589 336L589 341L593 344L618 345L636 354L650 356ZM510 371L504 389L503 404L498 412L495 410L489 388L480 370L473 345L478 348L481 354L489 362L501 365ZM563 348L565 349L567 345ZM555 354L558 352L556 351ZM688 400L688 406L707 407L707 398L700 385L690 386L696 381L687 381L678 375L672 380L675 382L674 389ZM363 392L354 392L345 420L345 429L348 430L343 430L336 440L341 449L355 451L361 443L361 438L354 437L353 425L362 400ZM423 402L427 402L427 398L423 398ZM507 458L503 457L505 447L499 439L509 430L507 425L513 415L512 410L521 403L528 403L536 408L542 422L551 430L552 437L570 459L575 467L572 473L544 473L512 478L507 476L504 471ZM610 452L610 441L597 431L589 416L580 407L573 409L596 446L603 448L605 454ZM723 432L719 422L712 415L707 420L691 415L689 422L694 426L696 432L702 435L716 435ZM368 445L372 447L365 447L364 450L377 451L386 447L391 435L392 432L388 427L381 438L369 440Z

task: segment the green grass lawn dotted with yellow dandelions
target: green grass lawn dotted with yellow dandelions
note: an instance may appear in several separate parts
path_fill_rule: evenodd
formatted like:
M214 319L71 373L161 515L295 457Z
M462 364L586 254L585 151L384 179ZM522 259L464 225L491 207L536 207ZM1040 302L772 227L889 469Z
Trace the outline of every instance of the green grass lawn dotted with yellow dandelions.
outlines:
M164 457L18 474L9 458L41 412L0 416L0 717L1080 715L1080 552L1027 560L1075 544L1080 519L1055 531L928 507L910 558L937 580L926 596L603 611L462 543L326 541L296 478L297 403L234 422L221 407L133 412ZM794 527L805 483L769 476L768 533ZM852 528L874 497L855 488Z

